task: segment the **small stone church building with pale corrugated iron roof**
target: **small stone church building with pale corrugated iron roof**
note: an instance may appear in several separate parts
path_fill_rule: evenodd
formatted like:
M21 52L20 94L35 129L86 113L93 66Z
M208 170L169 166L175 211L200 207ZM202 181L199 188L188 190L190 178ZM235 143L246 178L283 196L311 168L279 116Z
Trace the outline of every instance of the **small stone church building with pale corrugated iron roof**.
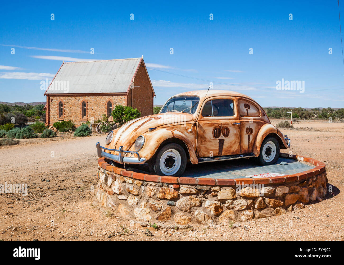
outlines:
M153 114L154 89L141 58L63 62L45 91L46 125L72 120L76 126L110 117L118 104ZM110 121L111 121L110 117Z

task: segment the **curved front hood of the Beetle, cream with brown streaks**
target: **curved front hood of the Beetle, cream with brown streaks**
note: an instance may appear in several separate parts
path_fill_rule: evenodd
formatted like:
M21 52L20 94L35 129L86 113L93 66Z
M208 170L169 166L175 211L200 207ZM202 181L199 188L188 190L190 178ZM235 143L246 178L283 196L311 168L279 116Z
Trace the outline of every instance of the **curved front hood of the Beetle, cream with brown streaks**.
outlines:
M123 124L120 128L114 130L115 136L108 145L109 148L119 148L123 146L124 150L129 150L131 145L135 143L137 137L148 132L149 128L158 128L164 125L177 125L190 122L194 116L190 113L168 112L161 114L153 114L141 118L131 120Z

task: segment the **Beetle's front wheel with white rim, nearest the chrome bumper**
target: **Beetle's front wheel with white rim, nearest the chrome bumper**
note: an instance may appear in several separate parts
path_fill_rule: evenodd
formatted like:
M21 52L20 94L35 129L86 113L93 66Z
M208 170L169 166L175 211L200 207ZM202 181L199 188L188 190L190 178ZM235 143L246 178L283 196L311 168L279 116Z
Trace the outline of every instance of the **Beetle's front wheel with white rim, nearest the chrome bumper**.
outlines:
M149 168L159 176L179 177L186 167L186 153L179 144L170 143L160 148L159 152L149 161Z

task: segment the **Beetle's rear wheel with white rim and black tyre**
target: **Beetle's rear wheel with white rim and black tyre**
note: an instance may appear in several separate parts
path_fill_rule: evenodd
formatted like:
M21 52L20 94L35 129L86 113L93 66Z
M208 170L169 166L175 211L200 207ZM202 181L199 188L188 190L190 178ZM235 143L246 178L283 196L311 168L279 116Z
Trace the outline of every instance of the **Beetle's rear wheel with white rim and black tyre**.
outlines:
M280 146L275 137L267 137L260 146L257 161L260 165L272 165L277 162Z

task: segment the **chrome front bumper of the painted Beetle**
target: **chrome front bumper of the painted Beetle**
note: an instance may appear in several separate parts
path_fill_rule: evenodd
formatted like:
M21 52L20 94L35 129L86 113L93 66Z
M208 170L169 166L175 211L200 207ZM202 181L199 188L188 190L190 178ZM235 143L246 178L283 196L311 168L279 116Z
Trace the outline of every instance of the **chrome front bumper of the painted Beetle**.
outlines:
M105 148L103 146L100 146L100 144L98 142L98 143L96 143L96 147L97 147L98 157L105 157L105 158L108 158L108 159L110 159L114 162L120 163L120 164L123 164L123 163L144 164L144 163L146 163L146 158L140 157L138 152L124 151L123 146L120 146L118 148L118 150L117 149L109 149L109 148ZM107 152L105 152L105 150L118 152L118 155L113 155L113 154L107 153ZM124 156L126 153L136 154L137 157L126 157L126 156Z

